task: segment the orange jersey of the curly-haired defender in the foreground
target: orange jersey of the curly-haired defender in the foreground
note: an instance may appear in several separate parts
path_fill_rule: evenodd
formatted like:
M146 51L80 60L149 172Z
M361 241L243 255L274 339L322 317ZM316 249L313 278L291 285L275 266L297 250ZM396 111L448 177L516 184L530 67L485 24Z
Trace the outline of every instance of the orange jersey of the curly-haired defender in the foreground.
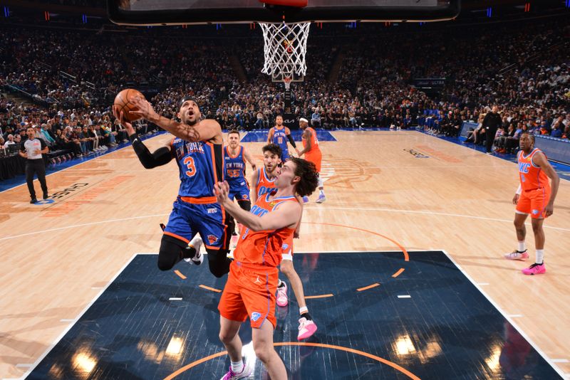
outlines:
M249 212L257 216L264 216L266 213L276 210L284 202L297 201L294 196L283 196L270 201L271 194L274 193L260 196ZM283 245L288 238L292 238L294 231L294 228L252 231L243 226L234 251L234 258L240 263L276 267L281 263Z

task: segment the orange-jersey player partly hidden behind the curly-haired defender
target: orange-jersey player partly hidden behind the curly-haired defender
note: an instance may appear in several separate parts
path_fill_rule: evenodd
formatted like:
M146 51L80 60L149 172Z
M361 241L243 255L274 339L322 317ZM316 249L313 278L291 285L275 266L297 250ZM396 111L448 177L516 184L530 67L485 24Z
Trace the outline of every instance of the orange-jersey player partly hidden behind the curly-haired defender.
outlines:
M279 148L278 145L267 144L262 149L264 167L257 169L254 171L254 174L252 174L252 184L254 186L252 200L254 202L265 194L276 189L274 181L277 176L277 171L279 170L279 164L281 164L281 160L279 159L281 156L281 148ZM299 199L299 201L301 201L301 199ZM301 220L299 219L299 224L295 228L294 236L291 237L290 241L286 241L283 246L283 252L281 253L283 261L281 261L281 267L279 269L289 279L291 287L293 287L297 303L299 304L300 318L297 339L303 340L311 337L311 335L316 332L317 327L309 314L309 308L306 305L303 283L293 266L293 237L299 237L300 228ZM289 304L289 297L287 297L287 284L281 280L278 280L277 284L276 302L279 307L286 307Z

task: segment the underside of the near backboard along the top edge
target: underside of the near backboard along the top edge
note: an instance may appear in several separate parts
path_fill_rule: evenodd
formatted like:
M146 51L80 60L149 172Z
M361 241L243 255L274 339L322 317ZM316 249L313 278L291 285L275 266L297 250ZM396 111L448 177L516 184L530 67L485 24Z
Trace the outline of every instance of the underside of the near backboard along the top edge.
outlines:
M259 0L107 0L122 25L441 21L459 14L460 0L309 0L302 8Z

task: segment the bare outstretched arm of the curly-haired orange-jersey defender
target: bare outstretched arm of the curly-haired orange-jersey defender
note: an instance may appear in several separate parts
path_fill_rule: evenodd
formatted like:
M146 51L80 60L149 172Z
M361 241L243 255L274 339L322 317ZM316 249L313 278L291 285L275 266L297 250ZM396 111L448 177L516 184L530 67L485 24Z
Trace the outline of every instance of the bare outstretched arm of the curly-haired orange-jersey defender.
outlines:
M242 223L252 231L272 231L279 228L295 228L301 217L301 206L298 202L284 202L271 213L257 216L245 211L238 204L228 198L229 184L218 182L214 186L214 194L219 204L232 215L236 221Z

